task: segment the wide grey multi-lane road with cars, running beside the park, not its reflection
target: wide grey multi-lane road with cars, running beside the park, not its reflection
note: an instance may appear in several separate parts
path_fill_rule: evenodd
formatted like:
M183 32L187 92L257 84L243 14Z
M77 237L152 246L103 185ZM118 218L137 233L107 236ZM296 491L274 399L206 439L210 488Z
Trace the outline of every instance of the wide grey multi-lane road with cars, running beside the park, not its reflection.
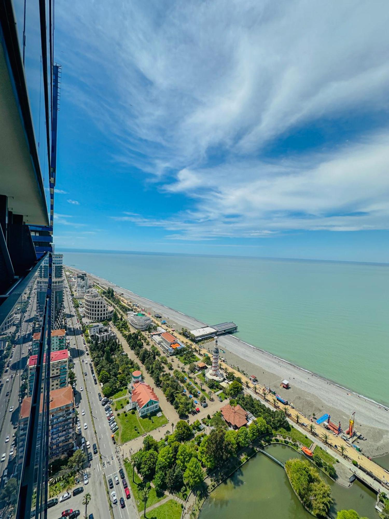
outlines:
M65 313L68 322L68 335L70 337L70 345L68 346L74 362L74 373L76 375L76 391L75 402L78 405L78 417L80 419L81 434L77 434L77 443L81 445L81 437L84 436L85 442L89 440L90 448L85 453L91 452L93 459L90 462L90 468L87 468L89 484L84 485L82 481L79 486L84 486L84 495L86 492L91 494L91 502L88 505L88 515L93 513L94 519L107 519L110 515L106 488L104 485L104 477L107 486L108 479L112 477L115 481L115 474L119 476L119 484L114 484L114 488L109 489L109 496L112 491L116 492L118 502L113 504L113 514L115 519L131 519L137 518L133 500L126 499L124 489L119 475L119 469L122 467L119 448L112 443L111 431L105 416L104 407L99 400L100 385L94 384L91 375L90 363L91 358L87 354L87 346L82 336L81 327L78 323L77 315L73 306L70 289L65 280ZM87 375L85 375L87 373ZM81 388L82 387L82 391ZM88 403L89 398L89 403ZM90 408L89 408L90 404ZM92 411L92 415L90 412ZM85 415L82 415L82 411ZM92 416L96 432L94 432ZM85 429L84 424L87 424ZM93 444L98 443L100 447L101 462L98 454L93 454ZM86 463L88 465L88 463ZM58 496L59 497L59 496ZM119 499L124 498L125 508L120 508ZM58 503L55 507L48 510L49 519L58 519L63 510L72 508L79 509L81 514L85 513L85 507L81 507L83 495L71 497L64 503ZM84 510L84 511L83 511Z

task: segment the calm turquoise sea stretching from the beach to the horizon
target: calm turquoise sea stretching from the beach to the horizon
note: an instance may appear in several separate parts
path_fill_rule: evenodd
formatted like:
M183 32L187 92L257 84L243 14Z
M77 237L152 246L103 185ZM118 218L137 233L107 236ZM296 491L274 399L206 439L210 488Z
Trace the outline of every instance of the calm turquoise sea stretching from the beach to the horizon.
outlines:
M57 251L59 252L59 251ZM64 251L64 263L389 404L389 266Z

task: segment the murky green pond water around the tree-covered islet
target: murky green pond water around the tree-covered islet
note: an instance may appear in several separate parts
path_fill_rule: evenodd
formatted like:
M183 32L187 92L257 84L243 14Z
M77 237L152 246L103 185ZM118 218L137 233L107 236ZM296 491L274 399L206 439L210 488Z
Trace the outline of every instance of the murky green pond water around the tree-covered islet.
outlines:
M268 445L266 450L282 462L302 454L286 445ZM377 519L374 510L376 495L355 481L350 488L334 483L326 474L320 475L331 486L334 507L354 509L369 519ZM205 501L200 519L236 519L237 517L283 517L284 519L312 518L302 507L287 479L285 470L265 455L257 454L221 483Z

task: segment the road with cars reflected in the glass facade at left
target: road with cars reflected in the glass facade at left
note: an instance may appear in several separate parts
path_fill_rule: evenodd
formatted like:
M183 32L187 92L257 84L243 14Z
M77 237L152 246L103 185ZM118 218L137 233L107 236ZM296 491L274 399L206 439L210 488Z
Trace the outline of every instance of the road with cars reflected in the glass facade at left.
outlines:
M16 336L15 347L12 348L8 362L5 365L7 373L4 372L1 378L0 458L5 454L5 460L0 462L1 488L4 487L7 479L11 477L14 467L17 465L17 445L14 447L13 455L10 457L9 454L12 442L15 441L16 443L17 428L14 429L13 426L17 426L19 422L21 375L29 358L29 343L32 342L35 311L36 290L33 289L30 300L21 317L20 333ZM13 406L12 411L10 411L11 406ZM9 441L6 443L7 435L9 435ZM7 476L3 477L5 469L7 469Z

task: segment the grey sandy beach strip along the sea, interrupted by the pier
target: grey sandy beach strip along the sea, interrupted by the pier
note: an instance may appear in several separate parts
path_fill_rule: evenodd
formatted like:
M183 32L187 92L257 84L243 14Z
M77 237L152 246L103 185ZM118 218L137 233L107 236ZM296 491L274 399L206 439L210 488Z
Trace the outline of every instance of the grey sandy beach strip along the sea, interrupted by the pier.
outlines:
M77 271L74 267L68 269ZM101 286L112 287L116 292L122 293L123 297L141 305L150 313L160 313L169 325L177 330L182 327L190 330L207 324L98 276L88 274L88 277ZM237 324L239 326L239 323ZM213 345L214 343L210 342L203 347L211 349ZM289 402L293 402L295 408L308 418L312 413L315 413L316 417L329 413L331 420L336 423L340 421L342 429L345 430L348 428L351 413L355 411L355 429L367 438L367 441L359 443L364 452L371 457L389 453L387 407L277 358L269 352L246 344L234 335L220 336L218 345L219 349L225 351L221 352L221 357L224 357L228 364L239 366L244 372L256 375L260 384L270 387ZM325 355L325 352L323 354ZM290 389L280 389L283 379L289 380ZM386 381L383 380L382 383L385 384Z

